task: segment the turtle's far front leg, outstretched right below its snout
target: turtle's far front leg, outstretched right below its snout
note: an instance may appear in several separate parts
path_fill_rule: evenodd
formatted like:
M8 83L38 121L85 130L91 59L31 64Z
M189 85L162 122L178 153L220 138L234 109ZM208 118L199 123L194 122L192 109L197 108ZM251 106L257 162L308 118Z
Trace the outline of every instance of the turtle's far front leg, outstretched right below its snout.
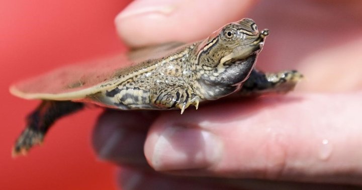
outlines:
M292 91L303 78L298 71L283 71L278 73L263 73L252 70L238 95L262 95L268 93L287 93Z

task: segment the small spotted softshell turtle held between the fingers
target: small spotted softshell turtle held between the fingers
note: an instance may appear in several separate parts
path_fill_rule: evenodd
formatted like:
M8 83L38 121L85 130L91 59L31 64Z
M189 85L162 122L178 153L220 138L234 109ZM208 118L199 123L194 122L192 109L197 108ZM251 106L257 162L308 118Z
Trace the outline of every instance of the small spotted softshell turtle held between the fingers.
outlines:
M203 41L144 48L87 65L72 65L13 85L10 91L42 103L27 117L14 155L43 141L60 117L85 103L113 109L180 109L233 95L291 91L297 71L263 73L254 69L269 31L251 19L230 23ZM131 65L122 67L122 65Z

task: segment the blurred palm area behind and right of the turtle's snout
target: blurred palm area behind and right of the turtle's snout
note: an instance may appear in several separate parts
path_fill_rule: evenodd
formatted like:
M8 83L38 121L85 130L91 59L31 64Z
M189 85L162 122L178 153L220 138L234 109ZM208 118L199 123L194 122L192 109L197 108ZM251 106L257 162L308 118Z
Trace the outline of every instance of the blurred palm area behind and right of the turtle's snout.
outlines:
M361 12L356 11L361 5L360 1L343 6L331 1L260 2L248 17L259 28L268 28L270 35L256 67L296 69L305 76L297 89L310 92L362 89L362 75L356 72L362 70L362 25L356 25L362 23Z

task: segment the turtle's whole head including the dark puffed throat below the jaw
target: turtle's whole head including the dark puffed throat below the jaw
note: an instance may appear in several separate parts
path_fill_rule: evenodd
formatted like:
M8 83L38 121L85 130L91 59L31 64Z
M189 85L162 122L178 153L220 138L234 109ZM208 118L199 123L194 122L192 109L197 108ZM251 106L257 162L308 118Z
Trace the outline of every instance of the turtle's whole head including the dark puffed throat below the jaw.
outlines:
M251 19L227 24L212 33L197 48L196 62L203 68L199 82L239 88L253 69L268 34L267 29L259 31Z

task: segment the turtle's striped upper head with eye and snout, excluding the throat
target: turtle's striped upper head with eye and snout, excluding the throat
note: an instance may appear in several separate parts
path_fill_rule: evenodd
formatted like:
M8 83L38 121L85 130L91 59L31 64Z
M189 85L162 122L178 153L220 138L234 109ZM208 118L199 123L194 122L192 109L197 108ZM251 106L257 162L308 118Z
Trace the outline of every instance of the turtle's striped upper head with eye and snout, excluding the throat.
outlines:
M199 61L210 66L232 64L260 52L268 35L267 29L259 32L251 19L227 24L199 45Z

